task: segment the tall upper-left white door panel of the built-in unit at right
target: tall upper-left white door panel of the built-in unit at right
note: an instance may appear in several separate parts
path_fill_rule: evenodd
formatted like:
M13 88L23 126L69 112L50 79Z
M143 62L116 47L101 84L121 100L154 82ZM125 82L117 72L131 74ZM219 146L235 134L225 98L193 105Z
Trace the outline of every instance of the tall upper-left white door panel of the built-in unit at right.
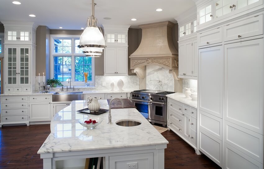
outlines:
M199 110L222 118L223 96L222 46L199 49Z

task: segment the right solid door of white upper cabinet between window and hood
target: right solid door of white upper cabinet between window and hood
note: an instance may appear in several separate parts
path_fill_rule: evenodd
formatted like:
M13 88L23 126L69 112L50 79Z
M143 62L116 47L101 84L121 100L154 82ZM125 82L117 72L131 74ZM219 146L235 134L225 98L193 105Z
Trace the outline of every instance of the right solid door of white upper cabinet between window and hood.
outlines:
M116 73L127 73L126 48L116 48Z

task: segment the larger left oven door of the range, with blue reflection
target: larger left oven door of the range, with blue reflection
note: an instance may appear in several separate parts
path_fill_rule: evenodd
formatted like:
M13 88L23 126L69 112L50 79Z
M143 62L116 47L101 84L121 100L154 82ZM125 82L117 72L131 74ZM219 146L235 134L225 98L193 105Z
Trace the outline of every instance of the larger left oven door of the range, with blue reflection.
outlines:
M131 99L137 110L146 118L151 119L152 104L150 101Z

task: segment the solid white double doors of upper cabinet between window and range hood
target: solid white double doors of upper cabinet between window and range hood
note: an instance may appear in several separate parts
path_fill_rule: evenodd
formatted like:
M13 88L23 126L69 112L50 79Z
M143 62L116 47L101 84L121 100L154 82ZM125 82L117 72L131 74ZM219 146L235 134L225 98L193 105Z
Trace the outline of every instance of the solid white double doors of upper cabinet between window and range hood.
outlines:
M127 75L127 47L105 49L105 75Z

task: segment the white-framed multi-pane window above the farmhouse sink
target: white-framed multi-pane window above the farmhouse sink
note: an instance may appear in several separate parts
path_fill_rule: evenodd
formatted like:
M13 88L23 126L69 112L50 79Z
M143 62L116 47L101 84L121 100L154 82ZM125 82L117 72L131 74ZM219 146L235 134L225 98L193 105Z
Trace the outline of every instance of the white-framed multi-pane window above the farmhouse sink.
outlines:
M77 46L80 36L51 35L51 78L59 79L63 85L84 86L84 73L87 82L94 86L94 58L87 57Z

